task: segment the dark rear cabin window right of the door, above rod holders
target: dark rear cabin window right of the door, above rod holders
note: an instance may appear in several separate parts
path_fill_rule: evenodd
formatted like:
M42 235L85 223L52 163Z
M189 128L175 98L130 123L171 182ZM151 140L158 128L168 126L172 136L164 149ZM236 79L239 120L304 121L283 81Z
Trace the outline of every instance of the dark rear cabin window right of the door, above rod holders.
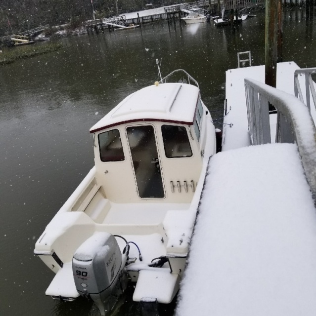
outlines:
M167 158L192 156L189 138L184 126L162 125L161 133Z

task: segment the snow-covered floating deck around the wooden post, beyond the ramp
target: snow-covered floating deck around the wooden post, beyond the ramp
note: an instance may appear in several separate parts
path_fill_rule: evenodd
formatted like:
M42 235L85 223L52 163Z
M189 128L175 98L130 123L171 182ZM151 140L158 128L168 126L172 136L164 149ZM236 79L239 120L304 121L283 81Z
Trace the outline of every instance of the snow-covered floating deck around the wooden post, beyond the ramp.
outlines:
M300 67L294 62L278 63L276 69L276 88L294 95L294 72ZM224 127L224 140L222 151L250 145L248 133L248 118L246 110L245 78L265 82L265 66L230 69L226 71L226 102L227 115L224 123L232 124ZM305 77L299 76L300 85L305 95ZM316 121L315 107L311 114Z

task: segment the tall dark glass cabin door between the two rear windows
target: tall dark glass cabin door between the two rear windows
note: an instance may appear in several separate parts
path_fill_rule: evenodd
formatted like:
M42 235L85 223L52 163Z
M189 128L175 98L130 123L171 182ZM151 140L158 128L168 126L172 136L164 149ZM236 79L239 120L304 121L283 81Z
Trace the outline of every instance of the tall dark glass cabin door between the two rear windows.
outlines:
M126 131L139 197L165 197L154 127L140 125Z

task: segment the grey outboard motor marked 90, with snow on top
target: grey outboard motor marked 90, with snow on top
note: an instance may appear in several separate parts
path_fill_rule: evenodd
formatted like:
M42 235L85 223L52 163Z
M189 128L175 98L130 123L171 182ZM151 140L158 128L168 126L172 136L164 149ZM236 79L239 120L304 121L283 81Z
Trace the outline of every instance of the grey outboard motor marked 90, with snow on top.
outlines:
M115 237L108 233L96 233L76 250L72 259L72 271L77 291L91 298L102 316L111 310L115 295L127 287L129 245L122 255Z

